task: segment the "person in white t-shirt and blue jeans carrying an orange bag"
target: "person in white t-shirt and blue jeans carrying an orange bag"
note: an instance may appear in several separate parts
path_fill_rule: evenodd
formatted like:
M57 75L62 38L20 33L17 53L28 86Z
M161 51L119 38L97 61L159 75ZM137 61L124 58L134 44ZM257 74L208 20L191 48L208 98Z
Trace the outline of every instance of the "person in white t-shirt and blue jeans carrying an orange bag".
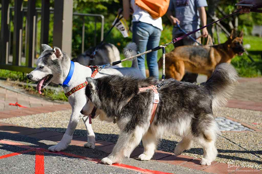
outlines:
M128 20L130 16L130 6L133 9L132 40L137 44L138 54L159 46L161 31L163 30L161 17L153 19L147 11L141 9L135 4L135 0L123 0L123 17L126 20ZM140 71L146 77L145 55L139 56L137 60ZM157 51L148 53L146 60L149 69L149 76L159 78Z

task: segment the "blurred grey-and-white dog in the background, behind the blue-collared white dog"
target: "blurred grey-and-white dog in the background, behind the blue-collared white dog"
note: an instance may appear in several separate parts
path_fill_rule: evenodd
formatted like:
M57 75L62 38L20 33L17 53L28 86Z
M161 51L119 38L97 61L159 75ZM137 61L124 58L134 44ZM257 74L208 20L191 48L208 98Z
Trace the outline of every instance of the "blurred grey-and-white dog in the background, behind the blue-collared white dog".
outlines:
M91 47L84 53L72 59L81 65L105 65L120 60L119 50L111 43L103 43L97 47ZM122 67L121 63L117 67Z

